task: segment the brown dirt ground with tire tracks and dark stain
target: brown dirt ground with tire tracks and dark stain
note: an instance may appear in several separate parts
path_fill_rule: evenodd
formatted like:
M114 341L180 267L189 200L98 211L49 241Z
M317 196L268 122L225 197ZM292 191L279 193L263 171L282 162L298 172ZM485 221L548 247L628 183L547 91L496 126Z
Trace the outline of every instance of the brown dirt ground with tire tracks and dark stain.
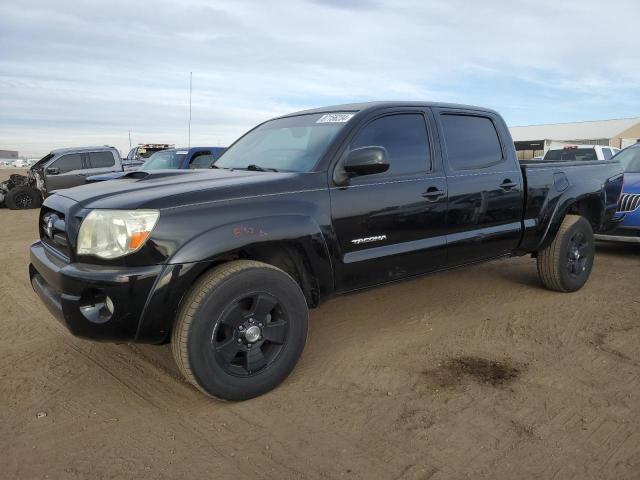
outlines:
M517 258L334 299L283 385L224 403L166 346L69 335L36 217L0 210L2 478L640 478L640 247L574 294Z

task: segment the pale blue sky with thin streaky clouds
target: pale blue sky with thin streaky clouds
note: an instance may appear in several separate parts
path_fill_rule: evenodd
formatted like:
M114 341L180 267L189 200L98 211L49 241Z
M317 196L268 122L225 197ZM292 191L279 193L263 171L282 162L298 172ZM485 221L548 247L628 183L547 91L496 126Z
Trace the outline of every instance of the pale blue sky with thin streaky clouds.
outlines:
M638 0L0 2L0 149L225 146L305 108L465 103L509 125L640 116Z

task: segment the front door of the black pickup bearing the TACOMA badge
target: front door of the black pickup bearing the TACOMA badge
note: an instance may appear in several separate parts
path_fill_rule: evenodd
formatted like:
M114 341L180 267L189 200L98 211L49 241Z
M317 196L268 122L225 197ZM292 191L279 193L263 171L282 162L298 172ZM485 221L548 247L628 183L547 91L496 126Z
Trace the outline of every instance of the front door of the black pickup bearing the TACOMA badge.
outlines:
M342 158L366 146L384 147L390 168L331 189L341 291L446 263L447 182L432 151L425 113L408 109L372 118L355 133Z

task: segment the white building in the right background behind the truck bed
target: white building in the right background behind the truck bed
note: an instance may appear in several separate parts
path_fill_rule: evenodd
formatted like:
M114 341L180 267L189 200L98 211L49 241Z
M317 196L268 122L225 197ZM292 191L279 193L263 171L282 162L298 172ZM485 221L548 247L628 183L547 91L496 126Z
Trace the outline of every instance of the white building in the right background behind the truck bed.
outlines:
M624 148L640 140L640 118L549 123L510 127L518 159L543 155L554 144L591 144Z

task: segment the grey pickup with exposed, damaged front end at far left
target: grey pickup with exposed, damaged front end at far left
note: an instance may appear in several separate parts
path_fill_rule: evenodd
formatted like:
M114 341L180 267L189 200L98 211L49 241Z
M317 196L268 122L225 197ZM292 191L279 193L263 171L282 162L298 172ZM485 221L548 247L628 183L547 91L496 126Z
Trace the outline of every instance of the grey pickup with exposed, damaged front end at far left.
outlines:
M113 147L52 150L31 166L26 176L12 175L0 183L0 204L14 210L38 208L55 190L82 185L89 175L122 170L120 153Z

